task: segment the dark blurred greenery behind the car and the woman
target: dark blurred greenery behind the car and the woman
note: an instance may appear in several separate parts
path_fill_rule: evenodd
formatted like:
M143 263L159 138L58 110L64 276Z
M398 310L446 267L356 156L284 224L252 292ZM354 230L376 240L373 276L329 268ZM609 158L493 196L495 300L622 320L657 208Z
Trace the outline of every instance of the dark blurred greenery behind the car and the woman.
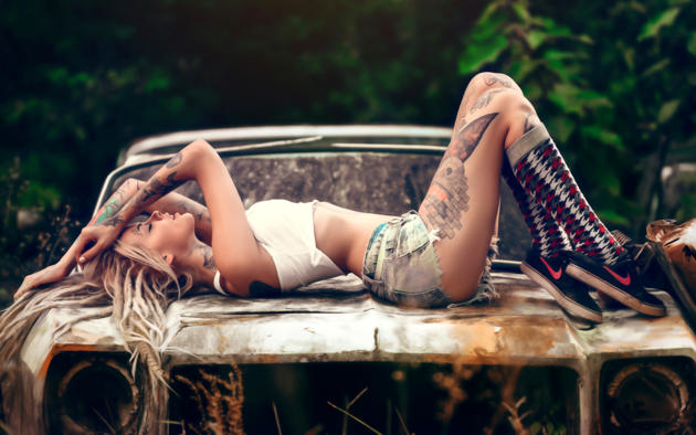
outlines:
M57 259L137 137L452 126L479 71L520 84L612 229L696 214L693 1L0 4L0 306Z

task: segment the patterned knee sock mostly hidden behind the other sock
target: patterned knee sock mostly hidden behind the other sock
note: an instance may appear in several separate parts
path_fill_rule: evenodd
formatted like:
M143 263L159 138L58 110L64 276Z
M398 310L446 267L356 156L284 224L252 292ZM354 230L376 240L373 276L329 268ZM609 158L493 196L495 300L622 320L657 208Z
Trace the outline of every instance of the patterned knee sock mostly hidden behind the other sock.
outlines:
M514 145L513 145L514 146ZM532 198L515 178L508 165L503 165L503 178L513 191L517 206L531 234L531 245L545 257L555 257L560 251L572 251L572 245L556 220Z

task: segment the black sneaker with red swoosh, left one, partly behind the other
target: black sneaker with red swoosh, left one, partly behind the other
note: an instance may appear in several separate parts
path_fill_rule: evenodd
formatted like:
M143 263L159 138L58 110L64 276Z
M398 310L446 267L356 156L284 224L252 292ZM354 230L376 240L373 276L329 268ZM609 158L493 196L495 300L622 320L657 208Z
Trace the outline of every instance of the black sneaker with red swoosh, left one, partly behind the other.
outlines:
M589 288L566 273L568 256L560 252L556 257L545 257L532 248L519 268L532 282L544 287L568 314L599 323L602 310Z

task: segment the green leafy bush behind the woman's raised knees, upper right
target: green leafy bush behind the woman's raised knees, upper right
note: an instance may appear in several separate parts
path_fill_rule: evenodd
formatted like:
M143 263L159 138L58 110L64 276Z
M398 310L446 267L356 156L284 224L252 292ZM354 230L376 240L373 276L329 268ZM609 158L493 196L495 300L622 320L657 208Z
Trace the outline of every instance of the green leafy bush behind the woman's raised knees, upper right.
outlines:
M686 1L535 10L498 0L472 29L479 44L463 52L460 72L492 68L520 83L602 217L641 235L667 211L662 167L696 138L695 14Z

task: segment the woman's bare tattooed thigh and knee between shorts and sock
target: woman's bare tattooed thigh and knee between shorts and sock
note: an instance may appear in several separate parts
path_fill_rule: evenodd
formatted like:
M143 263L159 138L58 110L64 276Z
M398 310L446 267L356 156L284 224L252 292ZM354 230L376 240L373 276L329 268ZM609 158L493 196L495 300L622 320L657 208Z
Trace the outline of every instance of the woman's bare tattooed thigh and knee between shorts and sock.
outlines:
M441 241L435 252L453 300L472 297L483 272L499 201L505 148L538 118L512 78L482 73L467 86L450 146L419 214Z

